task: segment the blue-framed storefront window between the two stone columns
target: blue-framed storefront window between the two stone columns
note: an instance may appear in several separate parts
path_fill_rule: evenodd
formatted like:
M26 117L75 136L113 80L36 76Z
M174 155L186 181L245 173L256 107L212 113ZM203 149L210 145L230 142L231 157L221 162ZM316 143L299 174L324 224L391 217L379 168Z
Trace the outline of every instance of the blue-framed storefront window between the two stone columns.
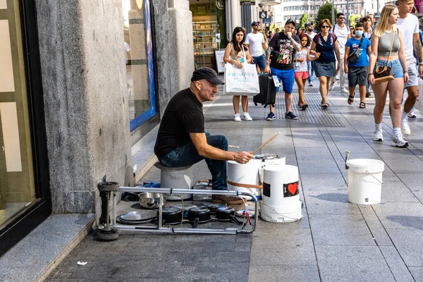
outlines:
M130 130L156 114L149 0L122 0Z

